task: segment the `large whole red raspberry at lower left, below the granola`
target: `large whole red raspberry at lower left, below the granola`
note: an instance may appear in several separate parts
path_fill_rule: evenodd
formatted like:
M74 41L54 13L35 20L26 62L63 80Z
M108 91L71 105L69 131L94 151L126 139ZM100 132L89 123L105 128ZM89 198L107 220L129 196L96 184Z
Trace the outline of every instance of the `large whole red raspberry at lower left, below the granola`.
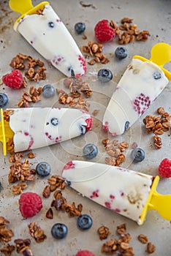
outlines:
M42 199L34 192L26 192L20 196L19 206L24 218L33 217L42 209Z

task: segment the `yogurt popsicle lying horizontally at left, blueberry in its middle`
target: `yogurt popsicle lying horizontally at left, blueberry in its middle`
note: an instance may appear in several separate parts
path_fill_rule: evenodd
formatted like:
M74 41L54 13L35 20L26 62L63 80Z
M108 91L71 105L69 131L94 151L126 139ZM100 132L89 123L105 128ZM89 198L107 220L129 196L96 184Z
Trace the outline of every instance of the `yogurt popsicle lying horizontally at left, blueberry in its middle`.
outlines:
M4 121L4 132L10 131L8 137L13 137L15 152L61 143L85 134L92 127L90 114L74 108L14 108L6 111L9 120Z

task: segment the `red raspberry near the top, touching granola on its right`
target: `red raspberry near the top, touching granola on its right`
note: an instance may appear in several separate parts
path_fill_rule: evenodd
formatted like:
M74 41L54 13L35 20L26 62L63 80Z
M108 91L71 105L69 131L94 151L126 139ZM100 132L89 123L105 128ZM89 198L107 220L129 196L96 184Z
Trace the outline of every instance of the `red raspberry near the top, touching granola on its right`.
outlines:
M115 37L115 29L110 26L108 20L100 20L95 26L95 36L99 42L107 42Z

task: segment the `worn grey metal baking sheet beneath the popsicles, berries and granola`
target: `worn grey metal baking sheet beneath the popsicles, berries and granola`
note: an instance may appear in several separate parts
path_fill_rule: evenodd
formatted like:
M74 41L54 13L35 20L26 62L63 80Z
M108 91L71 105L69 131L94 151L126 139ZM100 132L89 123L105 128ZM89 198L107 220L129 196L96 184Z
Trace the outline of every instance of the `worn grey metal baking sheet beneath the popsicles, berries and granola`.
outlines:
M36 5L40 1L33 1ZM96 74L96 72L102 67L108 67L113 71L113 83L99 87L96 83L95 77L93 76L93 81L90 82L94 89L93 97L90 99L92 113L94 109L100 109L99 114L94 118L94 127L91 132L88 132L85 136L80 138L75 138L74 140L69 140L64 143L50 146L42 149L34 150L37 154L35 159L31 160L32 166L35 167L38 162L46 161L52 166L52 174L61 174L61 169L63 165L71 159L83 159L81 157L82 148L86 143L95 143L99 148L99 155L93 161L104 162L104 146L102 146L102 139L106 138L107 135L102 131L101 121L104 110L107 106L107 102L110 100L110 96L115 89L116 83L123 75L126 66L132 59L134 55L141 55L146 58L150 57L151 47L156 44L156 42L171 42L171 1L170 0L145 0L145 1L83 1L83 4L90 4L90 7L83 7L80 4L81 1L50 1L54 10L58 13L59 17L64 21L66 27L71 32L72 36L75 38L77 45L82 48L86 45L88 40L91 42L96 41L94 38L94 26L95 24L104 18L108 20L114 20L120 23L121 18L129 17L134 18L134 23L141 30L149 30L151 32L151 37L148 38L147 42L134 42L132 44L126 45L129 51L129 56L122 60L117 61L114 58L115 48L118 47L117 40L113 42L107 42L104 44L103 53L110 59L110 62L106 65L95 64L94 66L88 65L87 73L91 72ZM26 42L20 34L17 34L12 29L14 21L18 18L18 13L9 10L8 1L1 1L0 4L0 75L3 75L11 70L9 67L9 61L13 56L17 55L19 52L30 55L34 58L39 58L44 60L42 56L39 56L33 48ZM87 39L83 40L82 36L75 34L74 25L77 22L86 23L86 36ZM44 86L46 83L53 83L54 86L58 86L57 81L59 81L59 86L61 86L60 80L64 78L57 69L53 67L48 67L45 61L45 67L47 68L47 80L39 82L37 86ZM170 64L165 67L170 69ZM171 71L171 69L170 69ZM85 79L90 79L86 77ZM35 83L32 85L35 86ZM0 86L0 91L7 93L9 97L9 104L7 108L17 107L18 101L22 95L22 90L12 91L7 89L5 86ZM170 83L164 89L162 94L153 103L151 108L145 113L156 114L156 109L159 107L164 107L167 112L171 113L170 108L171 99L171 89ZM58 97L53 97L51 100L43 99L34 106L58 106ZM31 105L33 106L33 105ZM143 116L142 116L143 118ZM126 132L126 135L118 138L123 141L126 140L131 145L134 141L137 142L138 146L144 148L145 150L145 160L136 165L132 164L130 161L130 151L126 153L126 162L123 163L123 167L129 167L132 170L137 170L142 173L148 173L151 175L157 174L157 167L159 162L164 157L170 158L170 132L162 135L163 146L160 150L154 150L152 145L151 135L146 135L145 129L142 125L142 118L134 124L134 126ZM0 148L2 152L2 147ZM76 218L69 218L67 214L63 212L55 212L53 219L46 219L45 213L50 207L50 203L53 200L53 195L50 198L43 199L43 209L42 211L32 219L24 220L18 210L18 198L19 196L12 195L11 186L8 184L7 176L9 173L9 162L8 156L3 157L1 154L0 159L0 176L1 184L3 189L1 190L0 197L0 215L9 219L9 227L14 230L15 238L31 238L28 234L27 225L36 221L47 235L47 239L42 244L37 244L34 239L31 238L31 249L34 255L75 255L78 249L90 249L95 255L102 255L100 252L101 246L105 241L100 241L99 236L96 233L97 228L100 225L106 225L110 227L110 238L117 237L115 230L117 225L122 223L127 224L127 232L131 234L132 241L131 245L134 247L134 255L146 255L146 246L140 244L137 241L137 236L140 233L148 236L149 241L156 245L156 252L153 255L171 255L171 224L170 222L161 219L156 211L148 212L145 224L138 226L132 220L121 217L118 214L113 213L113 211L107 210L106 208L96 205L91 202L91 200L81 197L74 190L66 187L64 190L64 196L69 203L75 201L75 203L83 204L83 213L90 214L94 220L94 224L90 230L81 232L77 229ZM129 182L129 181L128 181ZM36 178L35 182L28 185L26 191L34 191L42 194L42 189L47 184L47 179ZM115 186L115 184L113 184ZM171 179L162 179L159 182L158 192L162 194L171 194ZM68 228L68 236L62 241L56 241L50 235L50 227L56 222L64 222ZM16 253L16 252L15 252ZM12 254L12 255L15 255ZM17 253L16 253L17 254Z

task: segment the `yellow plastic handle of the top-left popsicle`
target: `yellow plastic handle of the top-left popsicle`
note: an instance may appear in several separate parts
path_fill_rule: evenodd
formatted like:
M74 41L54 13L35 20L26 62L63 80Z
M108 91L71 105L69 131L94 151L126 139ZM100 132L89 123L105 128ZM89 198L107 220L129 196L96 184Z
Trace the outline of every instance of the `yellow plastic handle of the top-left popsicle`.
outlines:
M31 15L37 12L37 10L42 10L48 1L42 1L42 3L33 6L31 0L9 0L9 7L12 11L20 12L21 16L15 21L14 28L25 15Z

